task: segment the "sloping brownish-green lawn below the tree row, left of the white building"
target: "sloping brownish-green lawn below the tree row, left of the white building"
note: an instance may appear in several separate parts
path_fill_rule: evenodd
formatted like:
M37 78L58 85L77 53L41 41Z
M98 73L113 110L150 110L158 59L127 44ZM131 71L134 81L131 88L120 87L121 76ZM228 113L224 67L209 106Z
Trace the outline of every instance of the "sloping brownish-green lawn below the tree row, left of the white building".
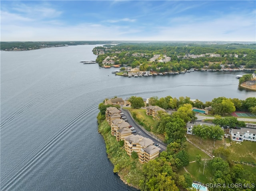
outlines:
M216 140L215 147L213 146L214 141L212 139L206 139L202 140L202 144L200 144L200 138L194 135L186 135L186 137L192 141L194 144L202 148L203 150L206 150L209 153L212 153L213 150L224 147L224 140Z

